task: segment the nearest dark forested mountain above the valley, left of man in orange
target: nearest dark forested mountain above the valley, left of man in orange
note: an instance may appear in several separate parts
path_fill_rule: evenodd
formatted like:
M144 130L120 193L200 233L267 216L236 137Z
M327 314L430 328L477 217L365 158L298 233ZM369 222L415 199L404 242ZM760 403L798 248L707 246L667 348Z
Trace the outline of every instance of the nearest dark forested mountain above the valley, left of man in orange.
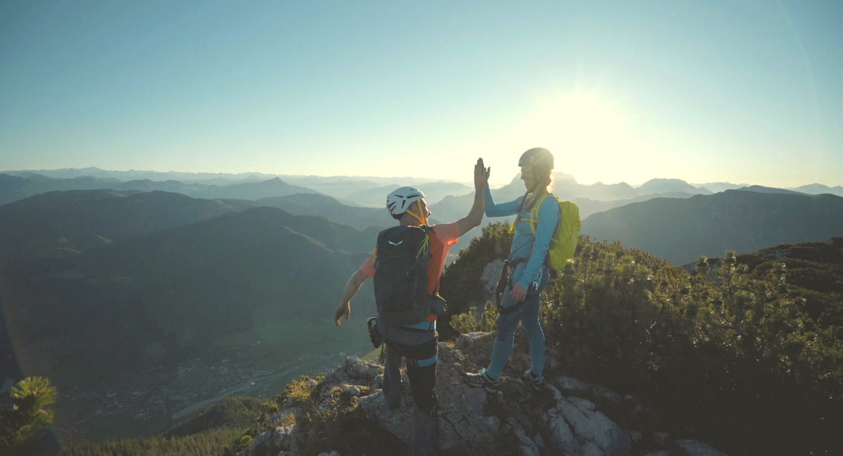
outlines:
M183 401L192 395L231 388L241 371L259 377L272 368L284 379L289 368L279 366L307 353L327 360L328 353L359 346L355 341L365 328L331 337L317 328L332 325L336 296L368 257L375 234L321 217L250 207L70 257L19 263L6 271L0 305L14 328L15 352L30 373L49 375L67 390L109 384L123 398L121 375L159 372L168 380L145 374L132 383L141 385L137 391L149 401L148 413L169 416L189 405ZM362 309L373 302L371 286L358 299ZM230 359L223 365L230 373L208 370L223 359ZM266 367L255 369L256 363ZM187 389L164 374L197 364L208 379L201 387ZM154 390L181 399L156 404Z

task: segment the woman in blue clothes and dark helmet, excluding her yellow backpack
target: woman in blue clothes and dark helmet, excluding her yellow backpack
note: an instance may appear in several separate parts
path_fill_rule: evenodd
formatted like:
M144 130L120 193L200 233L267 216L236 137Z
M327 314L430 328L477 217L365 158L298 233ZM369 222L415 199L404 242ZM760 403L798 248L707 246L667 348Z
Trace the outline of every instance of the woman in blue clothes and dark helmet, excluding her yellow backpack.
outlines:
M518 321L522 322L529 336L531 364L530 369L524 372L524 379L534 388L545 384L545 333L539 322L539 298L550 281L545 257L560 217L556 199L545 198L541 203L535 234L529 220L534 204L548 193L553 155L547 149L536 147L522 154L518 166L527 188L524 196L508 203L495 204L486 184L486 215L502 217L515 214L518 217L513 223L513 245L504 266L508 281L498 306L501 315L497 319L497 337L491 350L491 360L486 369L466 375L472 386L496 387L501 383L503 367L513 353Z

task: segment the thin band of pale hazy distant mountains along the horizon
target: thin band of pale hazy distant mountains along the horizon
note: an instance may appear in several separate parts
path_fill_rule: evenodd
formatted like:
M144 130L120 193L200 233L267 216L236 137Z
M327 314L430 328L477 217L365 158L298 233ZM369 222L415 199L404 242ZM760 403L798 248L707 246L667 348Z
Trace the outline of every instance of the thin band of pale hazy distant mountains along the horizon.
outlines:
M0 204L52 190L85 190L110 188L115 190L163 190L186 194L195 198L261 199L299 193L325 194L352 206L383 206L384 196L393 188L413 185L427 194L428 203L437 203L448 196L468 196L471 188L463 183L448 183L423 178L360 178L349 176L291 176L258 172L244 174L209 174L186 172L106 171L99 168L5 171L0 172ZM690 184L679 179L651 179L633 187L627 183L577 183L570 174L555 174L555 191L561 198L591 201L642 200L654 196L681 197L712 194L723 190L746 188L741 183ZM762 188L758 188L762 190ZM828 187L819 183L803 185L791 190L803 194L836 194L843 196L843 187ZM524 194L518 176L511 183L497 189L504 199ZM590 214L590 213L589 213Z

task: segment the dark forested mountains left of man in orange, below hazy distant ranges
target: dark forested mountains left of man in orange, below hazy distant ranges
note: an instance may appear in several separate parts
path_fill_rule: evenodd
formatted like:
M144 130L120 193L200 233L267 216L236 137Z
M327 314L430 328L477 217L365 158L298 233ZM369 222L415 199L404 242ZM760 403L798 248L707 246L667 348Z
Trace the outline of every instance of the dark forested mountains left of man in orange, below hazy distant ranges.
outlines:
M244 201L40 194L0 206L4 329L24 370L83 384L260 341L290 360L356 347L362 328L313 328L376 234ZM372 310L370 287L358 299Z

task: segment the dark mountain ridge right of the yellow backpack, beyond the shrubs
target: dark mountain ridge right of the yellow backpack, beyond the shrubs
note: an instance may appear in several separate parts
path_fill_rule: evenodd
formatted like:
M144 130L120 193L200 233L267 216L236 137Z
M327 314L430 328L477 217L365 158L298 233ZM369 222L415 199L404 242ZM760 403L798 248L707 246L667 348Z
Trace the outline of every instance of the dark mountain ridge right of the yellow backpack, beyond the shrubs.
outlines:
M759 231L747 227L761 227ZM781 242L843 234L843 198L726 190L689 199L650 199L588 216L583 234L620 240L675 264L727 250L752 252Z

